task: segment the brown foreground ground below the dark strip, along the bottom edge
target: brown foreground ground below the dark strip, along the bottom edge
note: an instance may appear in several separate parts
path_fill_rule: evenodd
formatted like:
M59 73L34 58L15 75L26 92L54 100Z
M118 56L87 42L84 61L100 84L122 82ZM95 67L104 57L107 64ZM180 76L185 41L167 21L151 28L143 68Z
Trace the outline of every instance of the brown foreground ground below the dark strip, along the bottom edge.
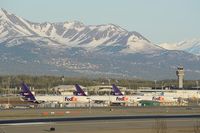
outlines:
M198 119L162 119L166 130L170 133L193 133ZM155 119L129 120L93 120L50 122L30 125L0 125L0 132L5 133L47 133L50 127L55 127L55 133L155 133L158 129Z

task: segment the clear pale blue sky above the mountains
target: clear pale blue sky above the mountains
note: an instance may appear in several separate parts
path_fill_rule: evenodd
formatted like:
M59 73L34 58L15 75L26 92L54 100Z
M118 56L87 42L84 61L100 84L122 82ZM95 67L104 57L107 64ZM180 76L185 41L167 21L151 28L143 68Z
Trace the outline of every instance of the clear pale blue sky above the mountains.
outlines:
M34 22L113 23L154 43L200 38L200 0L0 0Z

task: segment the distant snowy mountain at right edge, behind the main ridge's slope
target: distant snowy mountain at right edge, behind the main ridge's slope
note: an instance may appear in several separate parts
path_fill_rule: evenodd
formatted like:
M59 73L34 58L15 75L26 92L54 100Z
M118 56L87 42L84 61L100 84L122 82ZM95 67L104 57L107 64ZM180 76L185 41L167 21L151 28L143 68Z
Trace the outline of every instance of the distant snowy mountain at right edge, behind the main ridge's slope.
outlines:
M160 46L168 50L183 50L191 54L200 55L200 39L191 39L179 43L162 43Z

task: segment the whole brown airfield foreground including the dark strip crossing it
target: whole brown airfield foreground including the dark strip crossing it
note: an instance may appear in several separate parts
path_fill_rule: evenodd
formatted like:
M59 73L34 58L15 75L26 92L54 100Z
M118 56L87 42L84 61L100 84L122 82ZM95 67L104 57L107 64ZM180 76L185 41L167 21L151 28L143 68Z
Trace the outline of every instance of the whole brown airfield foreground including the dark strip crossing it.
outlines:
M50 127L56 128L55 133L155 133L159 123L169 133L194 133L199 111L199 107L1 110L0 133L47 133Z

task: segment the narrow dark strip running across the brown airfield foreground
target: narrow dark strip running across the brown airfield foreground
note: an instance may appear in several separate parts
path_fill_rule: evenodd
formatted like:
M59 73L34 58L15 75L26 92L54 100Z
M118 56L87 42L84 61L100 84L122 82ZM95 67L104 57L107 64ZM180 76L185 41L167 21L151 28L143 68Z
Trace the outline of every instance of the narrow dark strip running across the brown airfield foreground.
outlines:
M79 117L56 117L56 118L33 118L0 120L0 124L38 123L38 122L73 122L73 121L100 121L100 120L147 120L147 119L197 119L200 115L116 115L116 116L79 116Z

